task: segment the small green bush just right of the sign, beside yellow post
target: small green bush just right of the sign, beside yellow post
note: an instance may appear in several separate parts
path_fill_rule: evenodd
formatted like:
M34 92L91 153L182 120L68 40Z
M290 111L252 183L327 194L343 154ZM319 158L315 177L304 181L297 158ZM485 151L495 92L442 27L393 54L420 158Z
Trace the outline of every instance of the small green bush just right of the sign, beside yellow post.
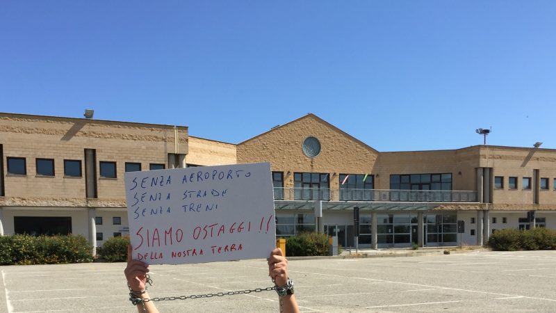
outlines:
M304 232L286 239L288 257L328 255L328 236L318 232Z

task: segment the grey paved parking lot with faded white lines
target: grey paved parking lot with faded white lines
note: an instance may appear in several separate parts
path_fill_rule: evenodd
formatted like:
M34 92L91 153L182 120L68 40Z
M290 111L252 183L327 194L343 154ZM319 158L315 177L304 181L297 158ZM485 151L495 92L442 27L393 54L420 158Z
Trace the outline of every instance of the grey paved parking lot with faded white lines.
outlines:
M0 266L0 312L134 312L124 264ZM302 312L556 312L556 251L290 262ZM151 296L270 287L265 260L153 266ZM274 291L157 303L162 312L277 312Z

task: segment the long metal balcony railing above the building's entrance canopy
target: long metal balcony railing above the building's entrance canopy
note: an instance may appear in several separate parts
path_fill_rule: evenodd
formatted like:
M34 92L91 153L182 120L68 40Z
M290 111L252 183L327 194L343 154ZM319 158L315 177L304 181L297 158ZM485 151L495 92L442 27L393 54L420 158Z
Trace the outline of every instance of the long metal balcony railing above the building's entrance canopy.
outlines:
M274 188L275 200L477 202L475 191Z

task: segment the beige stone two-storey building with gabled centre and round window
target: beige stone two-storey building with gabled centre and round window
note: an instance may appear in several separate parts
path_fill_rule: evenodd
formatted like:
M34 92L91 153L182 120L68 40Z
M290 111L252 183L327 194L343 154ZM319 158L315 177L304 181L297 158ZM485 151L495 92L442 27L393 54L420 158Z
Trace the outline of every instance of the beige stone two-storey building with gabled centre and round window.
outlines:
M0 234L74 232L101 246L128 231L125 171L259 161L271 164L277 236L318 230L354 246L355 207L361 248L556 228L556 150L378 152L313 114L236 145L173 125L0 113L0 157Z

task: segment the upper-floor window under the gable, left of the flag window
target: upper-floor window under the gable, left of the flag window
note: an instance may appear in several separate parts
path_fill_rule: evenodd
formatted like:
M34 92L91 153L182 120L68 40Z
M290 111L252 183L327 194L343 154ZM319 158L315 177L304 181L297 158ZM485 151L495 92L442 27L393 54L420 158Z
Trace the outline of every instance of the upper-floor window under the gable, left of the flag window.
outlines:
M294 200L329 200L330 183L327 173L294 172Z

